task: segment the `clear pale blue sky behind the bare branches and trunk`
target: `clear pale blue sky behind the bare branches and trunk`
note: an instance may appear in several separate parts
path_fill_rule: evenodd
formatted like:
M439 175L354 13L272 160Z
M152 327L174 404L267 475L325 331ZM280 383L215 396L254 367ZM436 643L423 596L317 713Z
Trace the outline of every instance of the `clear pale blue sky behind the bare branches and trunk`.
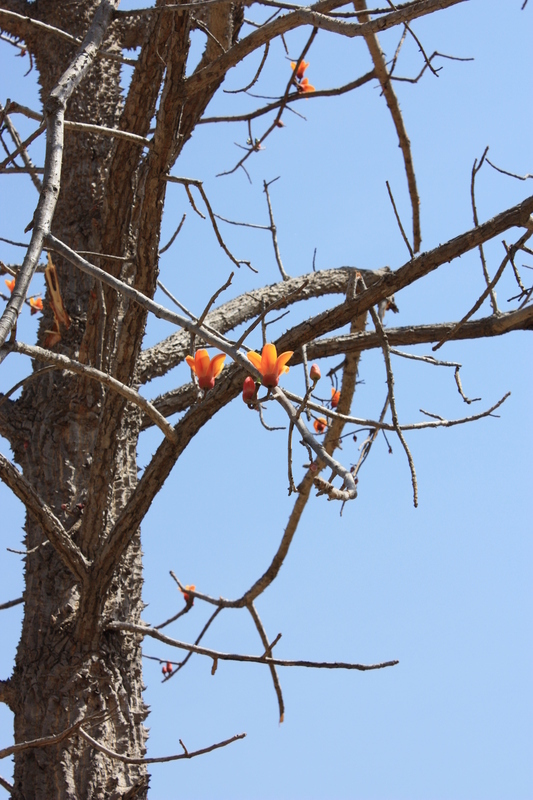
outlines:
M129 2L124 8L142 7ZM472 226L470 172L489 145L489 158L521 175L533 172L531 149L531 14L521 0L472 0L413 24L425 51L473 62L439 61L436 78L426 73L417 85L396 84L421 196L422 248L430 249ZM505 7L504 7L505 6ZM382 45L394 52L399 32ZM195 34L195 46L202 37ZM291 57L304 37L287 37ZM0 43L1 99L6 95L38 107L34 74ZM317 88L348 82L370 69L360 40L339 41L321 32L309 53L309 80ZM259 57L228 76L226 88L245 85ZM413 75L423 64L409 38L397 73ZM259 94L276 95L289 76L281 43L274 43ZM221 94L213 114L237 113L254 101ZM296 107L295 107L296 108ZM405 177L392 122L379 89L369 84L340 98L309 99L297 105L304 121L286 114L286 127L244 173L216 178L242 151L246 126L202 126L174 174L204 181L216 212L231 219L267 224L263 179L272 187L281 254L290 275L352 265L393 269L407 260L387 198L393 189L406 226L410 214ZM211 109L210 109L211 113ZM21 129L27 126L21 121ZM266 124L257 123L260 137ZM38 149L35 151L38 161ZM35 202L29 180L4 177L0 235L24 238ZM24 181L24 183L23 183ZM481 220L531 194L532 181L516 181L484 167L478 177ZM163 241L182 214L187 221L161 262L161 279L199 312L232 265L218 248L207 223L171 186ZM505 237L513 242L520 232ZM227 293L240 294L278 280L268 234L227 226L224 236L245 267ZM200 245L198 246L198 242ZM501 240L486 247L494 274L504 250ZM18 251L0 243L0 258ZM522 255L519 265L532 265ZM530 270L522 270L531 285ZM509 276L498 287L502 310L516 294ZM36 284L36 291L38 290ZM483 289L477 253L441 267L420 285L397 296L400 314L391 325L460 318ZM163 301L163 298L160 298ZM300 314L319 307L309 304ZM489 313L485 305L479 315ZM293 312L275 328L299 319ZM35 320L25 315L21 338L32 341ZM170 332L154 323L151 344ZM465 392L481 397L466 407L453 372L397 359L396 397L402 421L418 421L420 408L447 418L475 413L505 392L512 395L499 418L450 430L410 434L418 473L420 507L412 505L405 455L394 437L389 455L376 443L359 484L359 497L345 508L313 498L277 582L262 596L258 611L280 658L373 663L399 659L393 669L374 673L281 670L286 703L278 724L274 691L266 669L193 658L179 676L161 684L160 667L145 662L146 700L151 706L149 755L178 752L181 738L197 749L246 731L244 741L191 762L152 770L155 800L529 800L533 797L531 681L531 337L454 342L442 358L463 364ZM259 346L259 338L251 344ZM430 347L413 348L419 354ZM0 390L29 371L22 357L4 362ZM323 374L328 365L323 365ZM385 370L377 354L365 354L355 414L376 416L385 397ZM155 396L188 379L179 368L147 387ZM323 394L329 393L323 380ZM302 374L291 370L285 385L300 391ZM322 388L322 387L321 387ZM268 420L281 420L275 409ZM279 423L278 423L279 424ZM140 445L145 465L160 439L148 432ZM3 452L7 451L3 443ZM357 460L357 445L343 451ZM299 449L299 448L298 448ZM297 454L296 476L302 474ZM2 546L21 547L22 509L0 488ZM236 597L265 570L286 524L286 434L267 433L240 399L204 428L178 462L143 526L146 583L144 613L158 624L182 604L168 576L173 569L200 591ZM19 556L2 553L0 602L20 595ZM1 612L3 646L0 677L9 675L20 627L20 607ZM169 635L191 641L206 619L197 601ZM226 612L206 644L226 651L262 652L245 612ZM148 655L176 657L146 642ZM0 707L0 747L11 742L10 715ZM9 767L0 765L9 779Z

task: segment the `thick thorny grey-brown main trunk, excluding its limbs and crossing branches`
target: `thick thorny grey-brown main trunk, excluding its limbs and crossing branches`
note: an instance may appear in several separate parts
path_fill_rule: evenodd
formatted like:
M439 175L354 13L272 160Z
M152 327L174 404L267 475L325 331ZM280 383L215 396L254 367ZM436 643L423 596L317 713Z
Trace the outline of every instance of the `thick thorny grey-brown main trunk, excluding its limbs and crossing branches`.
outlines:
M79 36L87 30L97 6L94 0L40 0L35 4L35 16ZM35 39L31 49L45 100L73 51L56 38ZM121 107L119 66L100 59L69 103L67 118L114 127ZM78 250L100 249L100 211L110 152L110 139L66 134L53 233ZM54 258L54 263L72 318L57 349L77 357L94 283L60 259ZM45 303L40 341L52 323ZM103 397L98 384L53 371L31 382L17 404L20 439L14 443L15 456L75 540L80 535ZM138 431L138 414L124 414L115 431L110 518L118 514L136 484ZM102 520L97 536L103 534L103 525ZM97 542L91 544L97 546ZM140 643L133 637L104 635L95 647L94 641L86 640L76 625L79 587L31 516L26 520L26 546L25 615L12 679L18 698L15 741L58 734L87 715L104 712L105 718L88 731L115 751L142 757L147 712L142 699ZM138 620L141 586L137 532L108 593L106 615ZM74 736L17 754L14 786L17 800L141 798L146 796L147 776L143 766L110 759Z

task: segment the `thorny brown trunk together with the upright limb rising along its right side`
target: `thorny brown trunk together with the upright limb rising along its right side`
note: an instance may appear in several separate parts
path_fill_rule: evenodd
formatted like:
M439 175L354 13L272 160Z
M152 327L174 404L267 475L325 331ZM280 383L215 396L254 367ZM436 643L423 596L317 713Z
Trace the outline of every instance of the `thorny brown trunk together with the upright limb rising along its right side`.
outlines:
M25 11L82 38L98 6L97 0L39 0ZM197 69L218 57L218 42L234 41L242 20L242 10L230 4L207 13L217 43L208 38ZM120 65L100 58L66 113L68 120L143 137L157 113L146 154L123 140L66 132L52 225L52 233L77 251L127 256L128 261L95 260L148 296L156 288L166 175L223 80L221 75L191 100L180 99L190 24L188 14L153 14L143 20L137 44L144 39L146 46L127 98L121 95ZM119 31L119 25L111 27L106 50L120 54ZM39 71L44 105L75 48L55 36L33 34L31 28L26 44ZM68 330L61 328L54 349L130 386L146 313L58 256L52 258L72 321ZM41 344L54 324L49 299ZM97 382L54 370L27 384L11 405L10 424L24 476L90 564L137 484L138 408ZM143 608L140 533L134 527L128 537L116 561L105 565L108 577L100 581L95 575L91 586L89 576L82 586L28 514L25 615L9 687L16 742L61 734L89 717L84 728L100 744L121 755L144 756L147 709L140 639L105 630L109 620L138 623ZM75 733L57 744L18 752L14 787L17 800L143 798L148 776L144 764L125 764Z

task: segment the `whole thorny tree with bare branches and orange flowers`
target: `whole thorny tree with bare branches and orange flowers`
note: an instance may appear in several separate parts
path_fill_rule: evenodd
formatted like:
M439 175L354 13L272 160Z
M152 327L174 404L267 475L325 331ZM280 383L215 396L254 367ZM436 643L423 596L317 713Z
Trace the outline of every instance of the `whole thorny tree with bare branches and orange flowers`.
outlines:
M501 208L486 222L478 220L475 180L482 166L490 166L486 151L478 154L471 175L474 225L420 252L419 191L391 80L401 62L396 57L392 62L386 60L377 34L394 29L403 42L404 37L414 36L411 22L429 14L453 13L453 9L443 9L457 3L416 0L399 9L382 10L372 19L363 0L356 0L355 11L348 12L347 17L339 16L341 6L328 0L311 9L276 3L273 17L266 21L260 16L261 8L255 9L256 26L245 21L244 7L218 2L185 6L157 3L155 9L131 12L119 11L118 2L113 0L84 0L68 6L16 0L2 4L0 24L11 44L23 46L31 55L43 106L42 115L16 102L6 104L2 112L3 137L11 137L12 142L2 169L29 174L39 188L39 201L32 207L33 218L27 228L30 243L24 259L20 265L5 265L12 276L8 281L14 278L15 283L6 294L0 320L5 364L9 365L16 353L34 361L34 371L25 380L21 396L13 400L4 395L0 407L0 432L20 467L2 456L0 475L27 510L22 633L14 672L0 684L0 698L14 714L13 797L146 796L147 709L142 694L141 645L143 639L151 637L174 646L179 635L166 637L141 621L140 525L189 443L221 409L238 398L248 375L257 383L249 387L247 397L252 409L248 411L241 403L241 414L261 418L269 425L268 414L277 403L288 417L289 493L295 497L294 507L270 565L238 598L219 601L207 591L195 593L182 584L179 588L186 599L183 611L192 609L196 597L214 606L209 621L224 608L249 612L261 642L255 660L262 660L271 673L283 719L276 666L284 659L273 657L276 640L262 625L255 601L278 576L312 489L323 495L323 502L328 498L339 508L357 502L359 472L383 431L391 438L396 436L405 451L417 503L414 459L407 441L409 433L404 433L409 427L398 414L394 393L393 348L440 345L451 339L482 339L531 329L530 293L527 281L524 284L519 275L516 256L529 252L533 198ZM235 121L247 123L248 136L239 142L243 148L240 160L227 171L237 171L239 179L250 177L250 165L265 142L276 141L278 128L290 109L299 111L306 101L310 106L323 95L356 90L377 80L406 171L412 217L409 230L403 227L401 217L405 214L396 211L392 193L391 201L408 254L405 263L395 269L315 270L313 265L301 269L298 277L289 277L277 243L273 182L265 180L262 190L268 210L267 231L280 279L263 286L264 281L251 272L253 262L241 260L245 245L238 246L236 256L234 248L226 244L210 196L199 178L181 177L181 164L186 146L200 125L215 124L217 118L220 124L227 120L228 112L223 110L222 100L217 100L227 73L240 64L248 69L247 60L260 51L263 57L257 74L252 73L247 81L255 83L267 63L270 42L300 28L307 38L298 52L293 52L294 45L287 38L294 61L290 67L287 63L282 90L276 86L276 97L266 104L262 101L252 112L248 107L242 114L231 115L234 120L237 117ZM200 56L191 47L192 31L205 41ZM305 66L306 59L311 58L315 40L327 32L343 37L341 41L355 38L352 44L357 47L363 39L372 67L342 87L338 80L339 88L314 89L309 81L316 78L306 77L306 69L312 74L311 67ZM422 65L428 73L439 59L428 57L420 47ZM134 59L125 59L123 51L131 49L136 49ZM132 75L123 94L121 71L127 66L132 67ZM208 116L212 102L222 110ZM13 122L17 113L35 120L37 135L46 133L42 169L33 166L28 154L35 134L24 141L17 139ZM260 124L263 127L256 127ZM257 130L261 131L259 135ZM221 180L236 181L237 176ZM153 300L159 257L167 244L171 245L171 241L164 243L161 229L172 183L182 187L193 213L200 212L203 204L223 256L235 269L250 271L252 289L236 292L226 301L222 290L230 291L230 286L213 273L206 293L206 300L210 295L211 300L204 310L188 312L181 301L181 289L174 290L177 310L176 305L163 306L168 301L167 292L167 296L161 295L161 303ZM297 189L294 196L298 197ZM174 225L176 233L181 225ZM504 234L512 239L491 275L483 246ZM390 316L389 312L395 310L398 292L423 282L442 265L476 248L481 255L485 288L475 297L462 298L465 318L451 324L436 316L432 325L384 325L383 314ZM17 333L17 319L27 310L25 301L32 299L30 281L44 267L43 252L48 288L38 344L30 346ZM401 264L397 256L395 261ZM516 282L514 310L502 312L495 286L502 275L507 278L508 274ZM331 298L339 294L340 302ZM309 316L303 301L314 298L328 302ZM489 312L471 319L487 298ZM33 301L35 305L35 297ZM296 311L300 306L302 310ZM283 333L271 337L270 331L282 328L270 325L286 309L300 316L286 325ZM438 313L436 308L435 315ZM178 330L143 349L150 314ZM264 385L257 393L260 367L265 365L253 357L250 361L246 351L260 350L259 326L265 341L275 338L278 353L292 353L291 376L296 372L305 376L306 382L301 377L295 384L295 394L283 389L283 379L280 388L274 385L278 376L269 381L264 374ZM191 362L196 373L192 381L175 369L187 355L201 354L206 348L210 356L226 353L220 374L215 375L216 369L207 377L203 374L202 358L205 361L207 356L202 355L200 361ZM382 353L387 386L374 413L358 417L351 409L359 359L362 352L372 349ZM435 357L440 358L440 354ZM329 362L332 407L327 407L324 391L309 377L307 366L325 358L333 359ZM297 369L300 364L303 371ZM500 407L503 393L498 402L472 412L458 367L455 363L452 366L468 405L461 421L488 416ZM171 371L171 388L165 388L153 401L146 400L139 387ZM184 382L176 385L181 378ZM168 418L175 414L181 416L169 423ZM328 420L324 430L322 417ZM443 419L426 417L417 426L447 424ZM347 448L339 450L341 436L352 436L353 425L362 429L364 441L354 465L351 456L345 455ZM139 437L154 426L161 432L160 441L146 466L139 470ZM361 433L358 436L361 438ZM299 439L306 455L303 474L294 453L300 450ZM224 477L223 466L216 468ZM282 463L276 465L276 471L284 469ZM187 648L192 652L195 646ZM202 652L202 644L196 649ZM224 653L213 648L205 652L215 672ZM344 666L389 667L393 663L390 659L376 665Z

